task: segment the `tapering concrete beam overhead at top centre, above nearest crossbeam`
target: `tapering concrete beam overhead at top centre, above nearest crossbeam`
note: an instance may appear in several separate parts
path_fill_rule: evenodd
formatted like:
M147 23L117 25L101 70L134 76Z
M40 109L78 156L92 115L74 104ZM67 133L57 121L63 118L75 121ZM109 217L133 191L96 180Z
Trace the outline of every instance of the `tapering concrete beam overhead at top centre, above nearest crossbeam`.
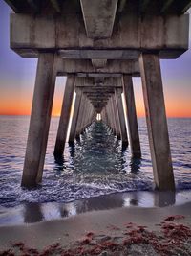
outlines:
M86 34L90 38L112 35L117 12L117 0L80 0Z

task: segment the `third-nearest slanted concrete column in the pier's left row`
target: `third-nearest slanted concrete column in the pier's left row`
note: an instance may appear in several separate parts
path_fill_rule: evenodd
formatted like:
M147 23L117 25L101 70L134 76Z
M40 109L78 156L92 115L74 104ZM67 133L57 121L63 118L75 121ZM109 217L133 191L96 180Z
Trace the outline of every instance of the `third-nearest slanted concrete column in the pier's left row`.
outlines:
M75 102L74 102L74 114L73 114L73 119L72 119L72 124L71 124L69 143L74 143L77 119L78 119L79 108L80 108L80 103L81 103L81 96L82 96L81 89L75 88L75 92L76 92L76 97L75 97Z

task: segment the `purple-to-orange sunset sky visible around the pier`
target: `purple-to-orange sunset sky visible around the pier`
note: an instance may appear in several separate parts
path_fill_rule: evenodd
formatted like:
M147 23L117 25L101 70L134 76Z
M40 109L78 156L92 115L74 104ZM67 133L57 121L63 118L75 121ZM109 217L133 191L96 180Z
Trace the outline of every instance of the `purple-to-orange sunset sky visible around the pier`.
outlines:
M0 115L30 115L37 59L21 58L10 49L10 12L0 0ZM191 117L191 50L178 59L161 60L160 64L167 116ZM56 79L53 116L60 114L65 81L65 77ZM133 81L138 117L141 117L144 116L141 80Z

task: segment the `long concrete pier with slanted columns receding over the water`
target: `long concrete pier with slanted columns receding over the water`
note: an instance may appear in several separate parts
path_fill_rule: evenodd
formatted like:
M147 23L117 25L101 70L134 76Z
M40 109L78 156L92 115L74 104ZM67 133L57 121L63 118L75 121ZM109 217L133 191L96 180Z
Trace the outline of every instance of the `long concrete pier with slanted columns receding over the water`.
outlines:
M55 157L64 154L74 92L71 144L100 114L122 147L141 157L132 80L141 77L155 186L175 190L160 59L188 50L191 1L5 2L13 11L11 49L22 58L38 58L22 186L36 186L43 177L57 76L67 81Z

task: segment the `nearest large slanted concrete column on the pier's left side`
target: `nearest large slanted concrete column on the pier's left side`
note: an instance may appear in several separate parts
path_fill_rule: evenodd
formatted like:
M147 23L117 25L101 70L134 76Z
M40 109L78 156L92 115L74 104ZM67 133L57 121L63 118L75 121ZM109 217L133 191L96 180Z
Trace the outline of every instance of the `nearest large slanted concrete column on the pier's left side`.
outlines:
M25 187L35 186L43 173L56 73L54 54L39 54L21 183Z

